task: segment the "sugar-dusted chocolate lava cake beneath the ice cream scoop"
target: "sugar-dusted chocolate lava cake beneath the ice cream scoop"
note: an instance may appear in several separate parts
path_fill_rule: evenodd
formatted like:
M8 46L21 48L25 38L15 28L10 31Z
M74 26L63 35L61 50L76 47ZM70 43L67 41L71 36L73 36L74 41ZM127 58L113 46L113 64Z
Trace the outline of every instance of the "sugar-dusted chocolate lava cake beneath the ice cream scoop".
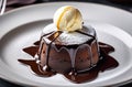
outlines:
M96 31L84 26L72 33L56 31L55 25L44 28L38 50L43 68L58 73L85 72L99 61Z

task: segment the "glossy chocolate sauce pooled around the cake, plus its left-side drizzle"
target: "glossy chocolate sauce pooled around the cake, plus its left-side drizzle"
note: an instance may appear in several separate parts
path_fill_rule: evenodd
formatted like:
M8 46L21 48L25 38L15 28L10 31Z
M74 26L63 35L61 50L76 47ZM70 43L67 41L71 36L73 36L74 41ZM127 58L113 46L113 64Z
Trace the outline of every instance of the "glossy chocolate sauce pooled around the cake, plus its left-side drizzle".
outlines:
M50 50L51 50L51 44L61 35L62 32L55 32L57 33L56 37L52 39L52 42L48 44L47 47L47 53L46 53L46 66L42 67L40 64L37 64L36 58L34 59L18 59L20 63L29 65L31 69L38 76L43 77L50 77L56 74L52 68L48 66L48 56L50 56ZM80 32L84 34L82 32ZM88 35L88 34L86 34ZM88 35L90 36L90 35ZM92 36L91 36L92 37ZM42 37L41 37L42 39ZM34 46L29 46L23 48L23 51L31 56L35 56L36 53L38 52L40 48L40 41L34 43ZM63 74L67 79L69 79L73 83L86 83L94 80L95 78L98 77L98 74L100 72L105 72L107 69L116 68L118 67L119 63L109 55L110 52L114 52L114 48L111 45L108 45L106 43L98 43L99 50L100 50L100 59L96 66L90 68L89 70L82 72L82 73L77 73L75 68L72 69L69 74ZM40 54L37 54L40 56ZM45 69L44 69L45 68Z

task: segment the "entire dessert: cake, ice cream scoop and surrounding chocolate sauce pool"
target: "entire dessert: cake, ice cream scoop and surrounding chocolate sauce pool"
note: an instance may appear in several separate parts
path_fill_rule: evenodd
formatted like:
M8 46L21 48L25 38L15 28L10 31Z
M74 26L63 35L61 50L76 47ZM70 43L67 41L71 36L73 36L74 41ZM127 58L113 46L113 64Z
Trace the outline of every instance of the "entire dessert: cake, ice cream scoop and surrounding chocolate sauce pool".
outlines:
M114 48L98 43L95 29L82 25L79 10L72 6L55 12L54 23L44 28L40 41L34 44L23 51L35 59L19 62L30 65L41 76L59 73L75 83L84 83L96 78L100 70L119 65L108 55Z

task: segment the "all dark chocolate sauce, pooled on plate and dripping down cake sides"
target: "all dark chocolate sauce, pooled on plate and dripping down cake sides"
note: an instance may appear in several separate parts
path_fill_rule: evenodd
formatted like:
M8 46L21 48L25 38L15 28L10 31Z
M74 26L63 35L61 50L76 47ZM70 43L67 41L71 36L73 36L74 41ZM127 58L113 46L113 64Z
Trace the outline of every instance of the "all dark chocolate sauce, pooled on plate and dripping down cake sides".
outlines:
M85 34L82 32L78 32L78 33ZM53 75L56 74L56 72L48 66L48 58L50 58L51 46L53 45L53 42L55 42L57 40L57 37L62 34L62 32L54 32L54 33L48 33L48 34L52 34L52 35L48 36L48 40L51 40L51 42L48 44L46 44L47 50L45 52L45 54L46 54L45 66L42 67L40 63L36 63L37 58L35 58L35 59L19 59L20 63L29 65L31 67L31 69L36 75L44 76L44 77L50 77L50 76L53 76ZM48 34L46 34L46 35L48 35ZM43 35L43 36L46 36L46 35ZM89 34L85 34L85 35L91 36ZM94 36L91 36L91 39L92 37ZM30 47L23 48L23 51L34 57L37 54L38 51L41 51L40 53L42 53L42 50L38 50L38 47L40 47L38 45L40 45L41 41L42 41L42 37L41 37L40 41L34 43L35 46L30 46ZM99 42L97 44L99 45L99 52L100 52L99 56L101 58L99 59L99 62L96 65L92 65L92 63L91 63L92 55L90 55L91 67L88 70L85 70L85 72L77 72L76 68L75 68L75 55L76 55L78 46L75 45L75 48L74 47L68 48L67 46L65 46L65 48L69 53L69 56L72 57L70 58L72 69L68 74L67 73L62 73L62 74L66 78L72 80L73 83L78 83L79 84L79 83L86 83L86 81L94 80L95 78L98 77L99 72L105 72L105 70L110 69L110 68L116 68L119 65L119 63L112 56L109 55L109 53L113 52L114 48L112 46L110 46L108 44L105 44L105 43L101 43L101 42ZM90 43L88 45L90 47L90 45L92 45L92 43ZM91 50L89 50L89 52L91 53ZM37 54L37 55L38 55L38 59L40 59L41 54Z

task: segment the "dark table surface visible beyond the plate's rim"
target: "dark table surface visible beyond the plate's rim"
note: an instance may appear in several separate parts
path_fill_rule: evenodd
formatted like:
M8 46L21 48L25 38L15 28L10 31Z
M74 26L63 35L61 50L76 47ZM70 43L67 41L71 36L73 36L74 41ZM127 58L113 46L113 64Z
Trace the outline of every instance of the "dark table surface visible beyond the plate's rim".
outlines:
M56 0L8 0L7 11L24 6L52 1ZM57 0L57 1L80 1L80 0ZM132 0L81 0L81 2L101 3L132 12ZM24 86L15 85L0 78L0 87L24 87ZM132 83L122 85L120 87L132 87Z

